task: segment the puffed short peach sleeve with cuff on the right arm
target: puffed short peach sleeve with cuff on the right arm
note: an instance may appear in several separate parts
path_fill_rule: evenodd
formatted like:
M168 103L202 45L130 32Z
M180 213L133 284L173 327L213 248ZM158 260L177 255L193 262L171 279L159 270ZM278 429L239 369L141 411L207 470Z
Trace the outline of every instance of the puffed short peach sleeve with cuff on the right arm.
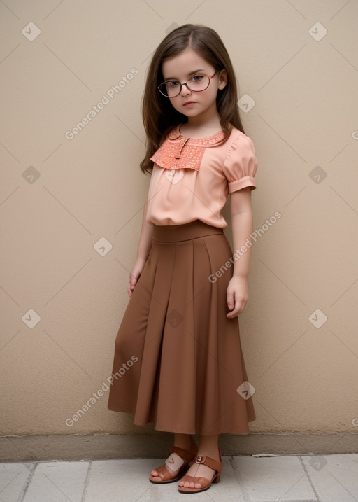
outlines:
M222 167L229 185L229 193L250 186L255 190L257 158L252 140L246 134L239 134L229 148Z

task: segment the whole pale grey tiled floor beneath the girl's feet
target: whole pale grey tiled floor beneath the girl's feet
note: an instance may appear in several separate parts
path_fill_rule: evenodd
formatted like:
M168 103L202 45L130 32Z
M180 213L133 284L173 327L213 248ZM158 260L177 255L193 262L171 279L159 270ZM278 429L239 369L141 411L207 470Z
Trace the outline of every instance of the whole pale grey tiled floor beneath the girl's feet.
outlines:
M225 456L220 483L190 498L217 502L358 501L358 454ZM177 484L158 486L157 459L0 464L1 502L183 501ZM184 498L183 498L184 497Z

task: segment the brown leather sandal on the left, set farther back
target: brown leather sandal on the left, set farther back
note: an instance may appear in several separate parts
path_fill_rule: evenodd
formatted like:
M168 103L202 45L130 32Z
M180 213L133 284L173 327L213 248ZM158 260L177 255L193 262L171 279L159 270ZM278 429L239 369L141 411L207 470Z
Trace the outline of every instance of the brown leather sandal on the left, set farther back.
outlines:
M171 449L169 450L169 457L166 459L164 465L157 467L157 473L159 477L162 477L162 481L156 481L153 479L152 476L149 477L149 480L151 483L155 484L165 484L165 483L173 483L176 481L179 481L183 475L187 472L189 469L189 463L192 463L192 459L194 459L194 456L196 456L198 452L198 447L194 443L194 440L192 437L190 437L190 451L187 452L186 449L178 448L176 446L172 446ZM176 454L176 455L174 455ZM178 458L178 456L180 458ZM178 473L173 475L167 468L166 466L169 466L171 470L178 470ZM157 477L157 476L155 476Z

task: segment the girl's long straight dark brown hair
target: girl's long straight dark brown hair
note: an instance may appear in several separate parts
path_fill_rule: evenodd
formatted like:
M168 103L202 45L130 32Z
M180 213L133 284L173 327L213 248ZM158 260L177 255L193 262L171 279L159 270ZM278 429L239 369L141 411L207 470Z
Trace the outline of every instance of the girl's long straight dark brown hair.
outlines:
M218 90L216 98L220 125L227 135L230 134L232 126L244 132L238 112L236 76L222 39L212 28L203 25L182 25L159 43L148 69L142 104L143 125L147 135L145 157L141 162L143 172L152 172L153 162L150 157L162 144L169 130L187 121L187 117L176 111L169 99L157 90L157 86L164 81L162 62L187 47L211 64L215 71L227 71L227 85Z

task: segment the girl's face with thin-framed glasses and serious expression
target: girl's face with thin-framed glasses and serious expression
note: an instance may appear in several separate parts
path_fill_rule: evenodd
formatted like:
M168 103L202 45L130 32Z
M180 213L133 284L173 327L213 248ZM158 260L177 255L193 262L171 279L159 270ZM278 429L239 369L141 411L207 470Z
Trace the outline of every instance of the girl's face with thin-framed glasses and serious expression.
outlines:
M164 60L162 63L162 74L164 81L175 80L180 83L198 81L200 76L211 76L215 74L214 67L203 60L199 54L188 47L180 54ZM180 94L170 97L171 104L183 115L198 117L205 113L206 118L217 116L216 96L217 90L224 89L227 84L227 74L225 70L217 71L210 79L210 84L206 90L195 92L189 90L186 85L182 85Z

